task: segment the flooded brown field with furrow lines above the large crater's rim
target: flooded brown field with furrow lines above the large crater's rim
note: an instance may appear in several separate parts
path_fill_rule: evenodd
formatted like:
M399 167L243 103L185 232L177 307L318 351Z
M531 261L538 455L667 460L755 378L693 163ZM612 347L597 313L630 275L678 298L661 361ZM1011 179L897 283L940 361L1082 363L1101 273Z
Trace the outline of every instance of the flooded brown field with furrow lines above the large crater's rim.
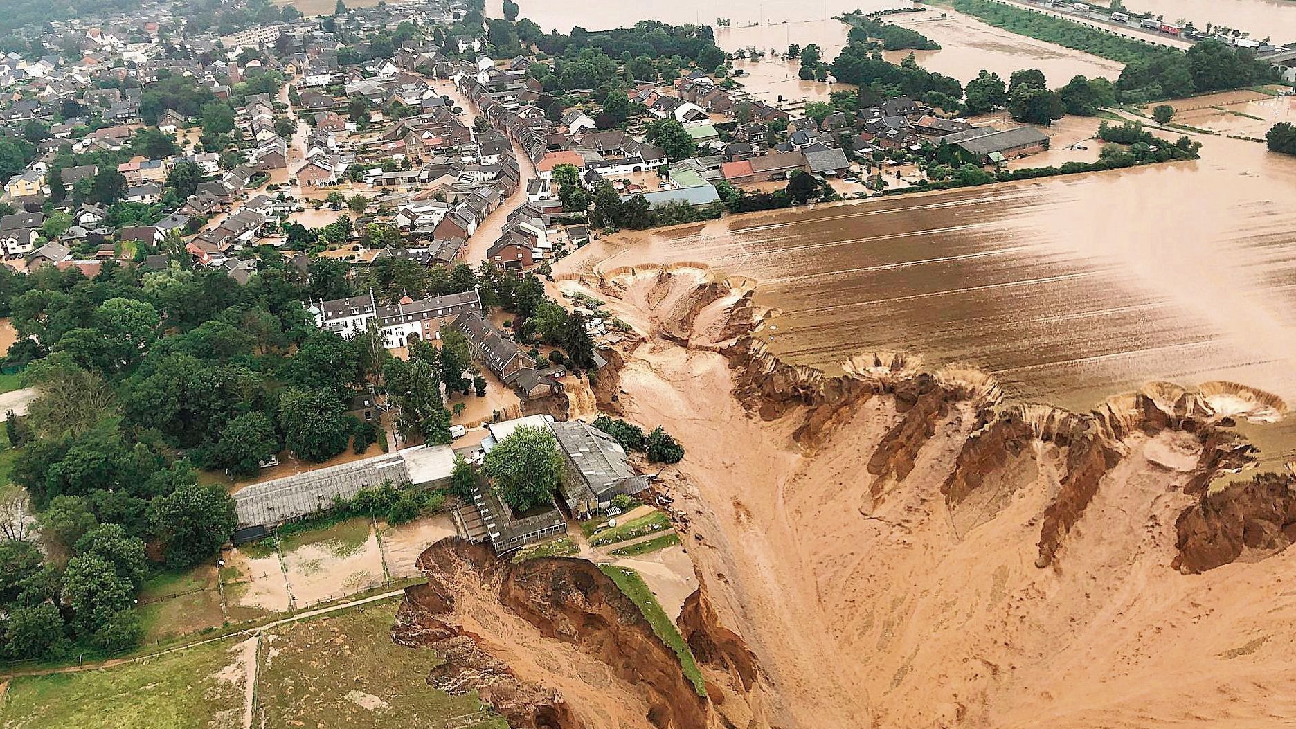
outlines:
M1198 162L736 217L582 253L753 276L780 311L762 336L828 370L905 349L1070 407L1153 379L1296 401L1296 160L1207 144Z

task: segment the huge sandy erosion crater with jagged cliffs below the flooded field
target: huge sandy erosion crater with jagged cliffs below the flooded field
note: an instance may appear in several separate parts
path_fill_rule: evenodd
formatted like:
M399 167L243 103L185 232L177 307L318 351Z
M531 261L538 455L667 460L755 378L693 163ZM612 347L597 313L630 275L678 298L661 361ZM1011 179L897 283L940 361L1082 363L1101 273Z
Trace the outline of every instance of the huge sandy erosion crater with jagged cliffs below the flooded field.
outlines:
M749 336L746 281L564 284L642 335L600 400L688 449L662 475L702 584L680 623L709 678L744 685L739 725L1296 721L1292 481L1209 486L1255 458L1231 424L1280 400L1159 383L1090 412L1003 405L901 354L826 376Z

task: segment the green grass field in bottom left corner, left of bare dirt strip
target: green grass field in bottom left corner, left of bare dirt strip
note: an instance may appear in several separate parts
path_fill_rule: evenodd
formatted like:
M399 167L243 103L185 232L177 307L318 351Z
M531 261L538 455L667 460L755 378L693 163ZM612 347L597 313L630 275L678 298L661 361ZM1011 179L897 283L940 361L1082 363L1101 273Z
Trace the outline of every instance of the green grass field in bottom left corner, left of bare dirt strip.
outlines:
M236 642L97 671L19 676L0 703L0 728L238 728L245 699Z

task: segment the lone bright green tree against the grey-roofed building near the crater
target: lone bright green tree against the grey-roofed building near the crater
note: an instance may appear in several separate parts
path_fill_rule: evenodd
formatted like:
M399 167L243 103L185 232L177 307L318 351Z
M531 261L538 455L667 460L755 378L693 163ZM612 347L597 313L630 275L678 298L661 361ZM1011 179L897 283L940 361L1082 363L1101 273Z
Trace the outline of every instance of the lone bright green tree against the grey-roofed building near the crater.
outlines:
M547 429L522 425L486 454L482 470L504 502L527 511L553 497L562 477L562 455Z

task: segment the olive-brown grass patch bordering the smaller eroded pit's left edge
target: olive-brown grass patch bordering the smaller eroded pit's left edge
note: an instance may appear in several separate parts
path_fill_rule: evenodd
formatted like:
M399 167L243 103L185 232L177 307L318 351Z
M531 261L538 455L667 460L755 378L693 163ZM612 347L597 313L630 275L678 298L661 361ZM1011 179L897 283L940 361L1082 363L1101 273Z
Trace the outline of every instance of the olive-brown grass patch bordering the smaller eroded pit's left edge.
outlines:
M259 726L508 729L473 695L428 686L438 658L391 642L394 601L283 625L262 643Z

